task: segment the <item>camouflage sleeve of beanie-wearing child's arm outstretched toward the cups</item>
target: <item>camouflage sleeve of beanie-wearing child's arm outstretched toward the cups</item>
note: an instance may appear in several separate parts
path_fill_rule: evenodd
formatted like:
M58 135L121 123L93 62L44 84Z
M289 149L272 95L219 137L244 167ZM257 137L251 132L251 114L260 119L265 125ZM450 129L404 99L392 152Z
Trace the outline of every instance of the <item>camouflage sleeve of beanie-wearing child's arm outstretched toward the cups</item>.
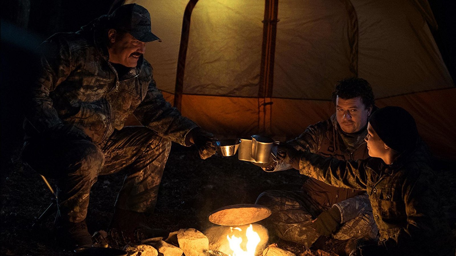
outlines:
M299 172L335 187L366 190L368 160L369 158L342 161L303 152L299 162Z

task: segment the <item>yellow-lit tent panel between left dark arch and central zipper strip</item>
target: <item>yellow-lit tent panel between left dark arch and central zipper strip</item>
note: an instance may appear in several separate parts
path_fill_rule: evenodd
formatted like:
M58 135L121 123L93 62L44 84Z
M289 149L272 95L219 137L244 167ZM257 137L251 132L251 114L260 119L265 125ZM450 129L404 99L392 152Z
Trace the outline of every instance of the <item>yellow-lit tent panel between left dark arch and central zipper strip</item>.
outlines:
M192 12L184 93L256 97L264 1L199 0Z

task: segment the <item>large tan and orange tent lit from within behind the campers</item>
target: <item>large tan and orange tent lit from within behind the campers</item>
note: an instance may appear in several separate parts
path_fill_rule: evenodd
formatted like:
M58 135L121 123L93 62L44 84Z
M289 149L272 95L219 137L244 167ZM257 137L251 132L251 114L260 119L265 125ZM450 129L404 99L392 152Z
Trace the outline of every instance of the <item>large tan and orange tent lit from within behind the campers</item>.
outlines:
M162 42L145 57L166 99L225 137L294 138L328 118L334 83L361 77L456 159L456 88L426 0L127 0Z

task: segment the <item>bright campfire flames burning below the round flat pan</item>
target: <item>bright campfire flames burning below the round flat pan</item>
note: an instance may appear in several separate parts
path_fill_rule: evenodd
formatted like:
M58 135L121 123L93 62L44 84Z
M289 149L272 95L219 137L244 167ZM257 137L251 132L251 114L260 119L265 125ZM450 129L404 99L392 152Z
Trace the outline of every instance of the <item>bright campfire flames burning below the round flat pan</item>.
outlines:
M233 250L233 254L229 254L229 256L255 256L256 247L261 239L258 233L253 230L252 224L245 231L245 235L239 227L230 227L230 230L231 232L238 230L240 234L238 236L232 235L231 237L227 235L229 247Z

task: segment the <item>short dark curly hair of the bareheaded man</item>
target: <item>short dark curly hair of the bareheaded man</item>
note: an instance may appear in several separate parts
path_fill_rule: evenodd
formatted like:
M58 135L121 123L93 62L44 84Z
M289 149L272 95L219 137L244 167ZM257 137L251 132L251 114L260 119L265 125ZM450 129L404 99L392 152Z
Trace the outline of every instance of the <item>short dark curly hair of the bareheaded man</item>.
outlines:
M350 77L337 81L336 87L331 95L334 105L336 105L337 96L342 99L361 97L361 101L366 108L373 107L375 104L372 87L369 82L363 78Z

